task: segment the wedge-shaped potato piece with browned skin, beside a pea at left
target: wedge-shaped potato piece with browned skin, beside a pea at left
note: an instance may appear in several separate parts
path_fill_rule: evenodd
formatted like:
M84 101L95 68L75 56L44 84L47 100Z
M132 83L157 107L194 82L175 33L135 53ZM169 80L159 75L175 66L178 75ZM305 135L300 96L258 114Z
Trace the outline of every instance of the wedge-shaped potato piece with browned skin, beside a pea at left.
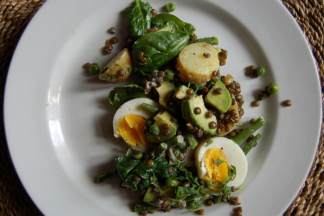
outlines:
M125 48L108 62L100 71L98 77L100 80L106 80L110 83L123 82L131 75L131 71L129 70L130 67L132 67L132 57L128 49ZM120 69L125 71L125 75L120 72L118 73Z

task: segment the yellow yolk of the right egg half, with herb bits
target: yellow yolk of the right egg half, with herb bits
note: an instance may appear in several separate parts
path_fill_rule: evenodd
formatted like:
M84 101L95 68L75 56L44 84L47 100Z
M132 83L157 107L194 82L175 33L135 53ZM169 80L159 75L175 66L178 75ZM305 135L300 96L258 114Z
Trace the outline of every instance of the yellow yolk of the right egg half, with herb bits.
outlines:
M225 182L228 176L228 166L225 155L218 148L212 148L204 154L204 162L207 173L204 178L213 182ZM212 189L216 190L213 186Z

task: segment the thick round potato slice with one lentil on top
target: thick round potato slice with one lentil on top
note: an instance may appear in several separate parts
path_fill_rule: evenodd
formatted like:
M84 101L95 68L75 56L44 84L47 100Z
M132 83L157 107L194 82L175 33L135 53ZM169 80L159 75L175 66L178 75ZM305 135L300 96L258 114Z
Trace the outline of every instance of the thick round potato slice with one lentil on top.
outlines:
M209 53L210 57L205 57ZM206 83L212 79L213 71L218 70L219 59L216 48L208 43L193 43L181 50L176 68L179 77L184 81Z

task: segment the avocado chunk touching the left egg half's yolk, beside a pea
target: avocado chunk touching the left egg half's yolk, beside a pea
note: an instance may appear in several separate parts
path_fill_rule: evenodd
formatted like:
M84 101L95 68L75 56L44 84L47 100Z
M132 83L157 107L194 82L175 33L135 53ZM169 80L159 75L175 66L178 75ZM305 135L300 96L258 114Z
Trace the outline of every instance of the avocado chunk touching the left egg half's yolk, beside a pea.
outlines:
M179 123L171 121L171 119L173 119L173 116L168 111L165 111L163 114L157 114L153 119L155 120L154 124L159 127L160 132L157 135L145 134L145 139L147 141L151 143L166 142L176 135ZM164 124L168 124L169 129L166 130ZM169 131L170 133L167 131Z

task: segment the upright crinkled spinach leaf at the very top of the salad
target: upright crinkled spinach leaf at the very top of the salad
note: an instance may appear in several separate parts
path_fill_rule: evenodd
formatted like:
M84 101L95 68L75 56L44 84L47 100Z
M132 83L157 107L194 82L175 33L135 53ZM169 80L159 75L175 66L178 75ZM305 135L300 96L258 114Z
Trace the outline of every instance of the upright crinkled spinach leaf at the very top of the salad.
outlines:
M152 6L149 3L143 3L141 0L135 0L134 5L125 9L130 21L129 30L132 39L146 34L146 30L150 28L151 9Z

